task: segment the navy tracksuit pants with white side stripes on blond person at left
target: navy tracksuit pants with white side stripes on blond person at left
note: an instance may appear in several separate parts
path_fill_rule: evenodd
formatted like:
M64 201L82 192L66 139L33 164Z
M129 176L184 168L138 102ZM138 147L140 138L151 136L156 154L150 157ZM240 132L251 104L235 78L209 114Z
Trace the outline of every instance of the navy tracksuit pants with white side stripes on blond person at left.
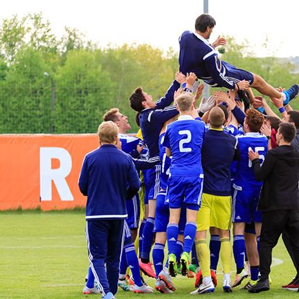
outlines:
M100 291L103 296L109 291L115 295L123 249L124 220L89 220L86 236L90 266Z

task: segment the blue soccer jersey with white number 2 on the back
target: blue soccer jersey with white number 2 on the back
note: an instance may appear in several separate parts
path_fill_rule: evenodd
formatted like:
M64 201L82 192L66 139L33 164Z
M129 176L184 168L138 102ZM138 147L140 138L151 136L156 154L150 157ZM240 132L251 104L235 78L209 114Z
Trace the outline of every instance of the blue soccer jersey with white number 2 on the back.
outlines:
M167 125L163 145L172 152L171 176L203 174L201 146L205 131L205 124L191 116L179 116L177 121Z

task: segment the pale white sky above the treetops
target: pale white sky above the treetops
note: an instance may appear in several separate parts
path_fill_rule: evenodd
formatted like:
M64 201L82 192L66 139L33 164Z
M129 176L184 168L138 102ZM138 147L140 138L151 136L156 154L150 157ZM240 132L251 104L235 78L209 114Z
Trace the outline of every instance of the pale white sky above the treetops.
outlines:
M10 0L1 3L0 20L28 12L42 12L57 37L68 26L102 47L146 43L179 51L179 35L194 30L203 0ZM260 57L299 56L298 0L209 0L209 14L216 20L210 42L233 36Z

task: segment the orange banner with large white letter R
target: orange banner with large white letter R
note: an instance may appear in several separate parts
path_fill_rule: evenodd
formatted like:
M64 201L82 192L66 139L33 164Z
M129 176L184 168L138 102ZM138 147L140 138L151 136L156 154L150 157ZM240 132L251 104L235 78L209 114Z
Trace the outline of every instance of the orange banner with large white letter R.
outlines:
M98 146L96 134L0 135L0 210L84 207L82 161Z

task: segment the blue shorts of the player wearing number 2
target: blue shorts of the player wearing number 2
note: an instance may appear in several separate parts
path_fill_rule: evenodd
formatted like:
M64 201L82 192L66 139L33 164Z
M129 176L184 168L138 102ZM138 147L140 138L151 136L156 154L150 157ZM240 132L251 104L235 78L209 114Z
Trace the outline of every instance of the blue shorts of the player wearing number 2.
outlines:
M170 176L167 182L167 200L170 208L199 210L203 190L203 174L198 176Z

